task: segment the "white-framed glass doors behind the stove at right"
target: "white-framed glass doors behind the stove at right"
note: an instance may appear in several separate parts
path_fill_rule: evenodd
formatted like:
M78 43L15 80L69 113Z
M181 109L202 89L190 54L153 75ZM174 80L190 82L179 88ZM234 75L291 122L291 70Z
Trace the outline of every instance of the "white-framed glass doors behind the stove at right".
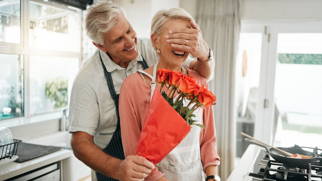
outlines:
M322 22L242 23L236 155L246 132L274 146L321 147Z

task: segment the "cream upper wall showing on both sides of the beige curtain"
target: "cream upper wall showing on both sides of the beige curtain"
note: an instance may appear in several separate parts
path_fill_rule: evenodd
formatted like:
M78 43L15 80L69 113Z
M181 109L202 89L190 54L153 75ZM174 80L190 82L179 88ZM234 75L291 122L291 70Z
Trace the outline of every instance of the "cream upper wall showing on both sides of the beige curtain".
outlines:
M195 18L198 0L181 0ZM322 19L321 0L241 0L242 20Z

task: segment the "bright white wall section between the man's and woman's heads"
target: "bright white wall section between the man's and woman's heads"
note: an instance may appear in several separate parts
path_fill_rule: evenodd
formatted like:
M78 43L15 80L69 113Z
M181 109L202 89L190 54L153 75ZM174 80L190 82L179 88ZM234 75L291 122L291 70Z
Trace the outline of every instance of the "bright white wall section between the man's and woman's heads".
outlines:
M124 8L137 36L149 38L153 15L160 9L179 7L180 0L135 0L133 4L129 0L114 2Z

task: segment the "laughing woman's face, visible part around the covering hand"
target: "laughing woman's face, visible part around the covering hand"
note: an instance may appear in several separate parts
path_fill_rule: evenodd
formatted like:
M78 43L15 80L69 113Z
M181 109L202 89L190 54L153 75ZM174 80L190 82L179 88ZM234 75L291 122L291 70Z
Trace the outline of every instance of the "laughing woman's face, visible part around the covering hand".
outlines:
M170 30L180 28L192 28L187 20L168 20L163 25L163 31L160 37L153 37L152 40L156 48L160 49L160 62L168 64L170 67L181 67L187 59L189 53L177 50L166 42L166 35Z

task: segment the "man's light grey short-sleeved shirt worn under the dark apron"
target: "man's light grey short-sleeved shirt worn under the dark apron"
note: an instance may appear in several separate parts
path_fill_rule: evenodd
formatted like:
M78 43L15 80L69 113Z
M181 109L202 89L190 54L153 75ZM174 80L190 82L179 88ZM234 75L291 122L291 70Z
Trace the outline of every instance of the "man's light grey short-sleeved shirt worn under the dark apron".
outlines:
M156 64L159 57L150 39L139 38L137 42L139 53L147 65L151 67ZM99 59L99 51L107 71L111 73L116 94L119 94L124 79L137 70L143 70L143 67L138 62L142 61L141 55L131 60L127 68L122 68L114 63L105 52L96 50L91 58L84 61L75 77L69 106L69 132L87 132L94 136L95 144L104 149L116 129L117 115ZM188 56L184 67L189 68L192 60Z

